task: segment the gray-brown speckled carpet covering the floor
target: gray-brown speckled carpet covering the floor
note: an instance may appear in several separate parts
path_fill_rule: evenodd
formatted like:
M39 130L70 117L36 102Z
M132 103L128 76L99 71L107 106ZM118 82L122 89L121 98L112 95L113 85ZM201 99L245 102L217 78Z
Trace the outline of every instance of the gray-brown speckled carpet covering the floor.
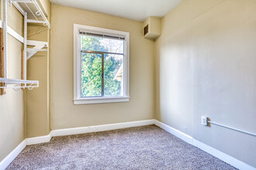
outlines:
M7 169L236 169L150 125L54 137L27 146Z

